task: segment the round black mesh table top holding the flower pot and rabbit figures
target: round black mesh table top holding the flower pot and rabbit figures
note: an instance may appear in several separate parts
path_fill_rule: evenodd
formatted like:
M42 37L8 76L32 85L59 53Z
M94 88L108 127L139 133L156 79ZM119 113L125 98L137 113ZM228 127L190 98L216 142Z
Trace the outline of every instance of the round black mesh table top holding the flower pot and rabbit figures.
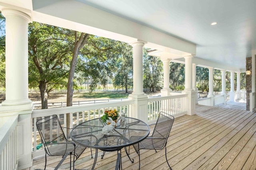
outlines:
M122 127L120 119L116 123L114 133L102 134L102 128L107 125L100 118L80 123L71 131L71 139L78 145L103 151L116 151L139 143L148 137L149 126L132 117L126 117L127 125Z

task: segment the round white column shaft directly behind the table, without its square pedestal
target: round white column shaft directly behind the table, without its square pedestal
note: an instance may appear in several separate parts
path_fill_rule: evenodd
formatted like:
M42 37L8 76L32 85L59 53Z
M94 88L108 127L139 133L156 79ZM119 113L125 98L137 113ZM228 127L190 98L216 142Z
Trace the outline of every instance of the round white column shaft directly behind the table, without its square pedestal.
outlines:
M136 42L133 47L133 95L144 95L143 92L143 47L144 43Z

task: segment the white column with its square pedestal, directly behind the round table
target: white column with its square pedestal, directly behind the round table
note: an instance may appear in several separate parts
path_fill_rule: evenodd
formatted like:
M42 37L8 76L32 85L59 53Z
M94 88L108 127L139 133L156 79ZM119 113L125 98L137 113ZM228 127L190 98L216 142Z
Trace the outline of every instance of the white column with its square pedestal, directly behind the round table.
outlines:
M131 115L134 118L148 122L148 96L143 92L143 47L145 41L131 43L133 47L133 92L129 99L134 101Z

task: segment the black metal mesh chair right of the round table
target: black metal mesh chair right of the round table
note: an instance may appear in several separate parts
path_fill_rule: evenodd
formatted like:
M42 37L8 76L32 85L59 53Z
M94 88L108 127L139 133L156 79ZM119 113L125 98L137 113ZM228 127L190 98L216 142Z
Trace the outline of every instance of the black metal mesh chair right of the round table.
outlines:
M154 123L155 127L152 135L150 137L147 137L140 143L133 145L134 149L139 155L139 169L140 169L140 149L154 149L156 151L156 150L165 148L166 162L170 167L167 160L167 156L166 156L166 144L167 144L167 139L170 135L173 122L174 122L174 117L172 115L168 115L167 113L164 113L161 111L158 115L158 119L156 123ZM170 169L172 170L171 167Z

